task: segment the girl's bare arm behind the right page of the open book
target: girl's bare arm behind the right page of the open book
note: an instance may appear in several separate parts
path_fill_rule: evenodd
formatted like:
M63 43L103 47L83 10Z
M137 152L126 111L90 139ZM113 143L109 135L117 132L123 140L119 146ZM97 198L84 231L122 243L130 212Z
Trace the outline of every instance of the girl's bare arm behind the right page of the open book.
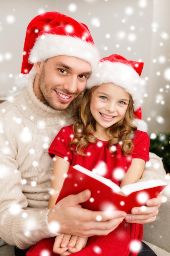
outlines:
M133 158L128 171L121 180L120 187L137 182L144 171L145 161L140 158Z

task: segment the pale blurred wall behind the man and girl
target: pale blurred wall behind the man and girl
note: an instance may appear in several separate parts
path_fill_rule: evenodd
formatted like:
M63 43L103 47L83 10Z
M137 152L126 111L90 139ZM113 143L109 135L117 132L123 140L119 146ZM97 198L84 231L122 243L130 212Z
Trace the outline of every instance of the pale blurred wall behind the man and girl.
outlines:
M46 11L85 23L101 57L143 61L148 133L170 133L170 0L0 0L0 99L20 73L27 25Z

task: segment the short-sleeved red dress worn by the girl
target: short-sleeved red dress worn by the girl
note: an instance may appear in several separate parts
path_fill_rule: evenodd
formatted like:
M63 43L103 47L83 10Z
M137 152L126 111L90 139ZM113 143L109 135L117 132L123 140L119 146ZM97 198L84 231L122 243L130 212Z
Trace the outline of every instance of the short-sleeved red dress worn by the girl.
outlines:
M93 170L98 164L104 162L106 164L106 172L104 177L112 180L116 184L120 184L119 180L115 179L114 171L117 168L122 168L127 171L132 158L149 160L149 145L150 139L146 132L135 131L134 149L133 152L124 156L121 152L119 144L116 144L116 153L113 156L108 148L107 141L97 140L94 144L89 144L86 147L86 157L79 155L69 148L69 142L74 136L72 126L63 127L53 140L49 155L54 155L65 158L71 165L80 164L83 167ZM73 145L74 147L74 145ZM88 243L84 249L75 253L75 256L137 256L138 250L131 251L130 243L138 241L141 243L143 236L143 226L141 224L130 224L122 222L114 231L107 236L92 236L88 239ZM31 247L26 256L41 256L42 250L48 250L49 256L58 256L53 253L53 244L55 238L47 238L40 241L37 245Z

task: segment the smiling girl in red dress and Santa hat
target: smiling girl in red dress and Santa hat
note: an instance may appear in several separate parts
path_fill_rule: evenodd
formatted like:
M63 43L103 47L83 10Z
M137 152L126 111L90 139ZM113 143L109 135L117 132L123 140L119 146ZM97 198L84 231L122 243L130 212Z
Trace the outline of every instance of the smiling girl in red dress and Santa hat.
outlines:
M150 141L146 124L140 120L145 93L140 78L143 65L113 54L102 58L89 77L77 121L62 128L49 148L55 160L49 208L56 202L70 164L88 170L100 170L99 166L104 165L102 175L119 186L141 178L149 160ZM87 239L60 234L55 238L53 252L61 256L75 252L77 256L136 256L139 247L131 245L133 241L140 244L142 234L142 225L122 220L107 236Z

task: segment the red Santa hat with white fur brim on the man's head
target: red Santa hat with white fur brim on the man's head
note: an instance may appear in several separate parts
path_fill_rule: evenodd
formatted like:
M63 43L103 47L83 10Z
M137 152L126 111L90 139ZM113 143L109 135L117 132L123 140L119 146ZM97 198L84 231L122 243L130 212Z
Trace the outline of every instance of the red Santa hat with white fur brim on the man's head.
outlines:
M91 64L92 70L100 59L86 25L59 12L42 13L26 29L20 76L28 76L34 63L59 55L81 58ZM18 87L22 83L23 79Z

